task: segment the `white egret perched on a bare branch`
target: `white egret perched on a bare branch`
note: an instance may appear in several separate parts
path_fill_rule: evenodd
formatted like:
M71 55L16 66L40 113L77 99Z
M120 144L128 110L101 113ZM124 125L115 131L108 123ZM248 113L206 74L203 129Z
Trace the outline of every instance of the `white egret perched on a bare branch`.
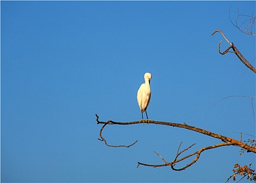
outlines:
M137 92L137 101L138 101L138 106L141 109L141 115L142 115L142 122L144 124L144 119L143 119L143 112L146 112L147 116L147 107L150 104L150 98L151 98L151 89L150 89L150 80L151 80L151 74L150 73L145 73L144 74L144 79L145 83L141 85L141 87L138 89ZM148 124L150 123L150 120L147 117Z

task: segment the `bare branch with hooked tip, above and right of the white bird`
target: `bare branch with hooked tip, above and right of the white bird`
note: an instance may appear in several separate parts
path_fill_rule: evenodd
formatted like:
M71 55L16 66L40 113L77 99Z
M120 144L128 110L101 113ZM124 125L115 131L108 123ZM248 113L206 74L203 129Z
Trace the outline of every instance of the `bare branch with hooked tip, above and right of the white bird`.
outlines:
M227 48L224 52L221 52L220 51L220 43L221 41L219 42L219 53L224 55L228 52L230 52L229 50L232 48L233 50L233 53L237 55L238 59L244 64L246 65L248 68L250 68L251 71L253 71L254 73L256 73L256 70L255 68L246 60L246 58L244 58L244 56L240 53L240 51L234 46L234 44L232 42L230 42L226 37L225 35L221 32L221 30L215 30L211 35L213 36L216 32L220 32L221 35L223 36L223 38L226 39L226 41L230 44L230 47Z

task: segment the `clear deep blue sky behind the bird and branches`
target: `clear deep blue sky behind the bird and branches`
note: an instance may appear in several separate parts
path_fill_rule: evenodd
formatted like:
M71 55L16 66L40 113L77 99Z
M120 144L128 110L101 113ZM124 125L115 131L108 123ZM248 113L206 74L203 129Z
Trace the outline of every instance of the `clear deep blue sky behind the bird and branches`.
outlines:
M238 6L255 15L254 1ZM196 143L188 153L221 143L185 129L112 125L103 131L110 144L137 144L97 140L95 113L141 120L136 94L145 72L150 119L238 140L238 132L255 135L249 98L211 108L224 97L255 96L255 74L236 55L220 55L223 38L211 36L220 29L249 62L255 58L255 37L231 24L229 8L235 20L237 1L1 1L1 182L225 182L236 163L255 168L254 154L232 146L202 153L185 171L136 168L162 164L153 151L172 161L181 141Z

